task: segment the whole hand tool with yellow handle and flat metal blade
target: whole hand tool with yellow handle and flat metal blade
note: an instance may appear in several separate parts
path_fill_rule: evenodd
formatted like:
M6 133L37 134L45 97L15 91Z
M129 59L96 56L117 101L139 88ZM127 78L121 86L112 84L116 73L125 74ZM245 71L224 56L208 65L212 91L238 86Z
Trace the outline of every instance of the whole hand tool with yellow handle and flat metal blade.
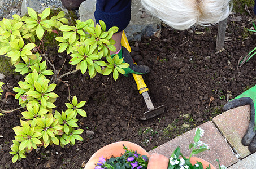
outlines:
M127 48L127 50L129 52L131 52L131 47L129 46L128 40L127 40L124 32L122 35L121 45L124 46L125 48ZM136 64L136 63L134 63L134 64ZM145 121L147 119L156 117L157 115L164 113L166 105L159 106L158 108L154 107L154 105L149 97L149 93L147 92L147 91L149 91L149 88L147 88L147 86L142 78L142 75L138 75L138 74L132 74L132 75L137 84L138 91L140 94L142 94L142 96L145 100L145 103L147 105L147 108L149 109L147 112L144 113L144 117L140 118L140 120Z

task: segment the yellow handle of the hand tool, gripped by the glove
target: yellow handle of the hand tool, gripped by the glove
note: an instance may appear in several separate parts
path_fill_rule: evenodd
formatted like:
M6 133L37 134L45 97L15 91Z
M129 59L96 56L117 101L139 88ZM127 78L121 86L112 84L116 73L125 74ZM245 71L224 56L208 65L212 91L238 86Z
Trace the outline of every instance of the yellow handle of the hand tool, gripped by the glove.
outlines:
M124 33L124 31L123 31L123 33L122 33L121 45L124 46L125 48L127 48L127 50L128 50L129 52L132 51L132 50L131 50L131 47L130 47L130 45L129 45L129 42L128 42L127 38L126 38L126 35L125 35L125 33ZM136 63L135 63L135 64L136 64ZM135 80L135 82L136 82L136 84L137 84L137 87L138 87L138 90L139 90L140 94L141 94L142 92L145 92L145 91L148 91L148 90L149 90L149 89L147 88L147 86L146 86L146 84L145 84L143 78L142 78L142 75L140 75L140 74L134 74L134 73L133 73L132 75L133 75L133 78L134 78L134 80Z

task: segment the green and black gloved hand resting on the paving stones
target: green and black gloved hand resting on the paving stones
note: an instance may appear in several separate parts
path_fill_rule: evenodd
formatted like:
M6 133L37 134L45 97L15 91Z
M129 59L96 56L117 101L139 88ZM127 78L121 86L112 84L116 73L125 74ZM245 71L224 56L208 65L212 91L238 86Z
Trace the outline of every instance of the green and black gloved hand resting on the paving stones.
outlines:
M250 152L256 152L256 126L255 126L255 104L256 104L256 86L251 87L249 90L246 90L241 95L235 97L228 101L227 104L224 105L223 110L227 111L229 109L236 108L238 106L243 106L246 104L250 104L251 106L251 114L250 114L250 123L248 129L242 137L242 145L248 146Z

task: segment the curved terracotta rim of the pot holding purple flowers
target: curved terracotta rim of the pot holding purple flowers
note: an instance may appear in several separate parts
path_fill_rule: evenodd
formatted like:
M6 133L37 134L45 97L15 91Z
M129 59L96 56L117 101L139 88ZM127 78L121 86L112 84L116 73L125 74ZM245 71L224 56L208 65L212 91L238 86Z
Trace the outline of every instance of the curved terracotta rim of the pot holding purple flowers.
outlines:
M85 169L94 169L94 164L99 161L99 157L103 156L104 158L111 158L112 156L119 157L121 154L124 154L125 151L123 149L123 144L127 146L128 150L132 149L134 151L137 151L138 154L146 155L147 157L149 157L149 153L147 153L146 150L144 150L141 146L128 141L120 141L103 146L103 148L95 152L86 163Z

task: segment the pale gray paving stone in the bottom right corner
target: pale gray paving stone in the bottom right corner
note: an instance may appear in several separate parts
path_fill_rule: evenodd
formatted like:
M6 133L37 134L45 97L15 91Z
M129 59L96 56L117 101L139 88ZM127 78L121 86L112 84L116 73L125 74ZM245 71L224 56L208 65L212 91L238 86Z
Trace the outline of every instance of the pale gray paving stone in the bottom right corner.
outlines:
M255 169L256 168L256 153L249 155L248 157L242 159L238 163L234 164L228 169Z

